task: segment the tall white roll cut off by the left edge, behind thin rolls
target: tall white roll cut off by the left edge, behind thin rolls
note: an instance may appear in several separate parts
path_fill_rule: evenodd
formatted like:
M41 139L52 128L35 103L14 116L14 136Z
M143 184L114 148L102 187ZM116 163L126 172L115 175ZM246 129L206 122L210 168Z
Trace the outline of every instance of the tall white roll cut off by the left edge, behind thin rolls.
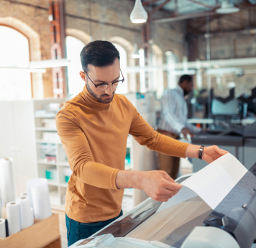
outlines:
M0 189L2 206L10 201L15 201L14 171L12 160L8 158L0 159Z

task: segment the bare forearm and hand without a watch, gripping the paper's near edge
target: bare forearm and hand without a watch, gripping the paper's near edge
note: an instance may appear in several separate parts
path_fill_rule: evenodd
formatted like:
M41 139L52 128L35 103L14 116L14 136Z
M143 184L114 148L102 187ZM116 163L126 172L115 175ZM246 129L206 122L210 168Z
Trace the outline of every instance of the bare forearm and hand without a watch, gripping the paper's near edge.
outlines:
M168 201L182 185L175 183L163 170L125 171L116 174L117 188L137 188L144 190L155 201Z

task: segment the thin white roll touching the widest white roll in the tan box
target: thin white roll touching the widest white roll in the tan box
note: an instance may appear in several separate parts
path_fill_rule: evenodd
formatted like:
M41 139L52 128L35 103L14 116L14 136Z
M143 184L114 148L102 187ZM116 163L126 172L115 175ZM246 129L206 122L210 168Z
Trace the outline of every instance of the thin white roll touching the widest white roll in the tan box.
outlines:
M16 199L20 204L20 217L22 222L22 229L32 226L32 213L30 210L30 201L27 196L19 197Z

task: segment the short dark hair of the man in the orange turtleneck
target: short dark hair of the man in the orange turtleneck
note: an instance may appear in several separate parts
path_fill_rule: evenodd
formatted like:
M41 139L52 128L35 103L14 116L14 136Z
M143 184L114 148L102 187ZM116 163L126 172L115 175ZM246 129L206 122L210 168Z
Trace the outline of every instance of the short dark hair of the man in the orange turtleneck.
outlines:
M88 43L80 53L83 70L88 72L88 65L104 67L113 65L114 60L120 60L119 51L108 41L96 40Z

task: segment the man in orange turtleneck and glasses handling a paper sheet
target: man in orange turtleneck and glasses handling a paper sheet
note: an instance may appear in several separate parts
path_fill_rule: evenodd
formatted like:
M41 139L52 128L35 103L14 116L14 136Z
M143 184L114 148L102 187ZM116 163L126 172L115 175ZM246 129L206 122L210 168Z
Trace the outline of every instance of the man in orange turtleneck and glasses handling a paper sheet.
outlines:
M155 132L116 87L125 80L119 52L111 42L94 41L83 47L83 92L65 103L56 116L61 142L73 171L65 202L68 246L86 239L122 215L124 188L144 190L156 201L168 201L180 190L163 171L125 171L127 136L157 152L198 157L200 146ZM205 147L203 159L224 155Z

